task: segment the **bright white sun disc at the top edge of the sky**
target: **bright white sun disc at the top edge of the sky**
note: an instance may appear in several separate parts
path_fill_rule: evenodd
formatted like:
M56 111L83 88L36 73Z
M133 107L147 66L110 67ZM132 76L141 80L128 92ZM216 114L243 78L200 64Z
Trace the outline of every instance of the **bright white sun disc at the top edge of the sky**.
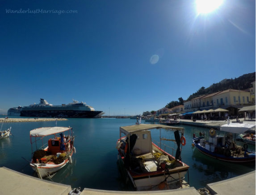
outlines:
M197 13L210 13L217 9L223 0L196 0Z

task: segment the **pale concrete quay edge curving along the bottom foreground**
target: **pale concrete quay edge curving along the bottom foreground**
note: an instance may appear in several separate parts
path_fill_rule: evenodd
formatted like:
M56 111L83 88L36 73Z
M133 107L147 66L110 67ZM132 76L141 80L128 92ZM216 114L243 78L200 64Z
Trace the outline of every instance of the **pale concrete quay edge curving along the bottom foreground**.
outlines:
M3 195L68 195L70 185L41 180L0 167L0 194ZM212 195L255 195L255 171L235 178L207 184ZM194 187L166 191L106 191L84 188L81 195L200 195Z

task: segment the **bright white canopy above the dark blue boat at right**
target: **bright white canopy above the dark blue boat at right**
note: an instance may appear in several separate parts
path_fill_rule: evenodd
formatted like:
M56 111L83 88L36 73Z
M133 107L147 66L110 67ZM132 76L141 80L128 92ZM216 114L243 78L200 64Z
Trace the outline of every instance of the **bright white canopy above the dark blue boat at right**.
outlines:
M246 124L246 123L229 123L229 124L220 126L221 131L226 131L226 132L235 133L235 134L242 134L243 132L250 129L255 130L255 125Z

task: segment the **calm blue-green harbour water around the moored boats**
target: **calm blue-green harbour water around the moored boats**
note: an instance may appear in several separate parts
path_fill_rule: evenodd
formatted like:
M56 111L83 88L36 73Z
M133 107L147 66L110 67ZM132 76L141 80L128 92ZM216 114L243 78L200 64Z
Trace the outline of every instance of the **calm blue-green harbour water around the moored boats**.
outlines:
M76 154L72 164L68 164L52 178L54 182L74 187L123 191L127 188L122 182L117 165L116 142L119 127L134 125L135 119L116 118L69 118L59 121L58 126L71 126L75 132ZM144 122L142 123L150 123ZM29 131L38 127L55 126L55 122L4 123L3 129L12 126L14 136L0 140L0 167L36 176L29 163L31 159ZM255 165L244 166L221 162L201 154L191 146L193 133L208 132L209 129L184 126L187 144L182 147L182 161L190 166L186 181L196 189L207 183L218 182L255 170ZM152 138L159 140L159 132L152 130ZM171 138L172 131L161 130L162 137ZM239 142L237 142L239 144ZM170 145L172 143L169 142ZM243 143L241 143L243 144ZM255 151L254 146L250 146ZM188 178L189 176L189 178Z

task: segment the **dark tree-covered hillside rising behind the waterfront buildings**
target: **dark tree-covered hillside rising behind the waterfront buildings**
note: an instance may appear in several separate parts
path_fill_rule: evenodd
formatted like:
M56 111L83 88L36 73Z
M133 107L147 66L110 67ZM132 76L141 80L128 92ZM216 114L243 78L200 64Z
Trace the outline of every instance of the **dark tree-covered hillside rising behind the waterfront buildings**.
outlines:
M235 79L223 79L219 83L210 85L208 88L201 87L199 90L197 90L196 93L190 95L187 101L205 94L215 93L227 89L245 90L252 87L253 81L255 81L255 72L243 74L242 76Z

